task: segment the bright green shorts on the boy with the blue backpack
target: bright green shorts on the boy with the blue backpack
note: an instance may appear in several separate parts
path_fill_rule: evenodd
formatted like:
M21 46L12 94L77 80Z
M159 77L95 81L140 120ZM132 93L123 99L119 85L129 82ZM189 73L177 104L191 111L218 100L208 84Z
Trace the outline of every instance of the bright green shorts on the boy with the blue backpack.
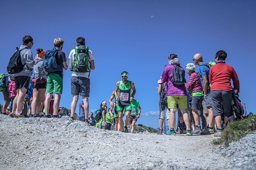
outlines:
M61 78L61 76L57 73L49 73L47 78L46 93L63 93L63 78Z

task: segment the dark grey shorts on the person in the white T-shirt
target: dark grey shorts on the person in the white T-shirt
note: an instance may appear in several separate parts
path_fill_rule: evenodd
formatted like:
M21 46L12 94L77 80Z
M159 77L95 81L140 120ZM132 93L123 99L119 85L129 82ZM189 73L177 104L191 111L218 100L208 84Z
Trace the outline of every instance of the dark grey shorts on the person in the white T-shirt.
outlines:
M90 79L85 77L71 76L71 95L81 95L89 97L90 95Z

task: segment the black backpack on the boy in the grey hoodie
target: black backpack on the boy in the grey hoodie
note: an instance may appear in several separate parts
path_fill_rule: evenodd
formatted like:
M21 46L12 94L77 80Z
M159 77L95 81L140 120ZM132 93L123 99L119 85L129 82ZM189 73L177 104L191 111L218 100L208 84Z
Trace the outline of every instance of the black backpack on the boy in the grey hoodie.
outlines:
M13 54L13 56L11 56L7 66L7 72L9 74L15 74L15 73L21 72L25 65L25 64L23 65L23 63L21 62L21 56L20 56L21 50L19 50L18 47L16 47L16 49L17 51Z

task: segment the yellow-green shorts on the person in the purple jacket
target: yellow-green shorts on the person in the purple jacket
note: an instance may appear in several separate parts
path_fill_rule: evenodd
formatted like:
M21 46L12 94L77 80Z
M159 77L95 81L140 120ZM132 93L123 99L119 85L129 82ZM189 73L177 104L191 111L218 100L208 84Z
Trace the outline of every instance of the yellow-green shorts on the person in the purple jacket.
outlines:
M187 109L187 96L186 95L176 95L176 96L167 96L168 108L176 108L176 103L179 103L180 109Z

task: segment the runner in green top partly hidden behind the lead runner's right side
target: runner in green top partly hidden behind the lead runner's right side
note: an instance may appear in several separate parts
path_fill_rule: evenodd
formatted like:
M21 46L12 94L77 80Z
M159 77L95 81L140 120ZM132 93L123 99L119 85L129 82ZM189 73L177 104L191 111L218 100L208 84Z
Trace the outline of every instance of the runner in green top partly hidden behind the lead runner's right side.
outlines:
M131 113L130 113L130 133L134 133L135 123L141 116L141 105L138 100L133 100L130 102ZM139 111L138 111L139 108Z

